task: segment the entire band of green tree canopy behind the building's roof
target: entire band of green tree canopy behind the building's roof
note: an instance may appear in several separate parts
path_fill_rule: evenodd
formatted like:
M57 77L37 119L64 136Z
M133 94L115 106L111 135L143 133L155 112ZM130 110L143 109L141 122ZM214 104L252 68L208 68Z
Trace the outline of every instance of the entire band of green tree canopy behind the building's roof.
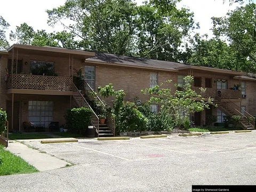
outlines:
M214 37L195 34L199 24L181 0L66 0L46 10L48 24L63 31L48 33L22 23L10 39L20 44L66 47L156 60L189 63L236 71L255 72L256 5L239 3L225 17L212 18ZM216 0L221 1L221 0ZM6 49L6 30L0 16L0 48Z

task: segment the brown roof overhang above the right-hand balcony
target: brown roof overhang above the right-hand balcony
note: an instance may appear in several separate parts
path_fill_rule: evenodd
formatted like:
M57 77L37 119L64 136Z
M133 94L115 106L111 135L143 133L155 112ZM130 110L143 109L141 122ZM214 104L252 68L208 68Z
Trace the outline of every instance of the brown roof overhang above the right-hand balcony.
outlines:
M218 68L211 68L211 67L203 67L203 66L185 66L185 67L179 67L178 70L186 70L186 69L197 69L197 70L204 70L204 71L211 71L215 73L222 73L222 74L230 74L230 75L246 75L244 72L239 71L232 71L232 70L226 70L226 69L218 69Z

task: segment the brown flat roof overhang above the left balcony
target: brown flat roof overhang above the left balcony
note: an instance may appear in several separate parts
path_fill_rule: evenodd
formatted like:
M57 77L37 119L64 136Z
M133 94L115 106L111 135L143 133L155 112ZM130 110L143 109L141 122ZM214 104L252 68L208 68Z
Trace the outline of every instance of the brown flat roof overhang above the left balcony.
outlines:
M60 47L51 47L51 46L33 46L33 45L20 45L13 44L7 52L10 52L12 49L18 49L19 53L31 53L31 54L44 54L44 55L52 55L59 57L68 57L68 55L74 55L75 58L83 58L87 59L93 57L95 55L94 52L83 51L83 50L71 50ZM43 53L42 53L43 52Z

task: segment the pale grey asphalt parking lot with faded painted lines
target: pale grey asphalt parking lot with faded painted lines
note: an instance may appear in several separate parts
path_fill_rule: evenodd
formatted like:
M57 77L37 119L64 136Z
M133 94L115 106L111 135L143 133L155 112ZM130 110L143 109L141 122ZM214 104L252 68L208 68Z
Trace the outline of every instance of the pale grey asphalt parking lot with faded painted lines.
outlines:
M26 144L74 165L0 177L3 191L191 191L192 185L256 185L256 131Z

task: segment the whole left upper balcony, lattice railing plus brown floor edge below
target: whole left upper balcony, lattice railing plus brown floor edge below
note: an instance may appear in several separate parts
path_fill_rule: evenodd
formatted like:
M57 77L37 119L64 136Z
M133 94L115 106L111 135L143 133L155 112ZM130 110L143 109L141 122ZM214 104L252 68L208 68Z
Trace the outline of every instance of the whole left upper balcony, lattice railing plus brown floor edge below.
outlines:
M73 95L72 78L13 74L7 79L7 94Z

